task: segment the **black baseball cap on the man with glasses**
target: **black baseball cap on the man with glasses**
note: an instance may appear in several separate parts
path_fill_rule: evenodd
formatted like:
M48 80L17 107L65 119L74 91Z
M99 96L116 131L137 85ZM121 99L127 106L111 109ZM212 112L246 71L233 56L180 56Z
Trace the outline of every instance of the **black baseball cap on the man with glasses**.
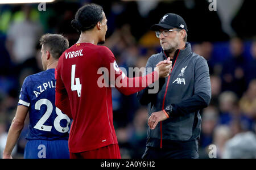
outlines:
M160 19L160 22L158 24L152 25L151 30L152 31L159 31L159 29L172 29L172 28L180 28L185 29L185 31L188 31L187 25L183 18L181 18L180 15L168 13Z

